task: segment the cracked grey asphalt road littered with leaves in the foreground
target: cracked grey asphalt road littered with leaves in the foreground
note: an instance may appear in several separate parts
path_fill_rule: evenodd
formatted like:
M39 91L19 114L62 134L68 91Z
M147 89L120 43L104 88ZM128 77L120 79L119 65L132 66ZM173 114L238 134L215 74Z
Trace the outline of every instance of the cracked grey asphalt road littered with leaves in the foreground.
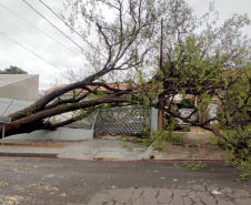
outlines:
M0 157L0 204L251 204L251 183L234 181L238 168L207 164Z

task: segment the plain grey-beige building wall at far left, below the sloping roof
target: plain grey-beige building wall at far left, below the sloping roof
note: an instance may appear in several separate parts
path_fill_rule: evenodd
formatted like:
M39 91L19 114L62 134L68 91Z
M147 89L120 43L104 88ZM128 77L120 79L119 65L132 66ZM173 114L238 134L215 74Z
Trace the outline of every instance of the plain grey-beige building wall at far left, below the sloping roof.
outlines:
M0 98L23 101L36 101L40 98L38 91L39 91L39 75L33 75L0 86Z

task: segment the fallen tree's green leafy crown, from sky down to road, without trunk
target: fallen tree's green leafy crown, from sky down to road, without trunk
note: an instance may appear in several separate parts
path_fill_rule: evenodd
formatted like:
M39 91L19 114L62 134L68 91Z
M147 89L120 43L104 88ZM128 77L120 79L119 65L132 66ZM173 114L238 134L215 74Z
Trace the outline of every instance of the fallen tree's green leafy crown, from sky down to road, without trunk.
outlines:
M241 33L241 29L250 24L248 16L234 14L219 24L213 4L202 17L194 17L184 0L124 2L93 0L68 4L69 1L66 1L66 6L69 6L66 8L72 9L70 12L66 10L69 14L66 19L69 19L71 24L80 20L76 13L81 13L84 19L82 33L90 35L98 25L99 42L94 44L100 45L102 53L108 53L109 61L104 62L101 57L100 59L88 57L91 59L90 64L97 71L104 69L106 72L109 68L128 68L124 81L132 80L130 83L138 88L138 93L128 95L128 100L134 104L150 105L160 94L167 95L169 100L175 94L195 94L200 99L197 109L201 124L209 120L207 107L212 98L218 96L221 101L218 113L221 130L214 143L231 152L234 163L241 166L249 164L250 43ZM99 10L100 7L110 9L114 14L113 20L108 20L106 9ZM164 22L162 70L158 64L161 18ZM93 50L92 53L97 51ZM103 66L104 63L109 66ZM112 76L118 74L114 70L111 71ZM232 71L233 74L229 74ZM120 74L118 76L121 78ZM94 79L98 80L97 76ZM183 100L182 104L191 107L190 100ZM167 122L167 132L152 133L158 150L164 147L164 141L180 144L183 137L172 135L177 124L171 115ZM144 141L152 142L148 137ZM243 166L244 172L249 168L248 165Z

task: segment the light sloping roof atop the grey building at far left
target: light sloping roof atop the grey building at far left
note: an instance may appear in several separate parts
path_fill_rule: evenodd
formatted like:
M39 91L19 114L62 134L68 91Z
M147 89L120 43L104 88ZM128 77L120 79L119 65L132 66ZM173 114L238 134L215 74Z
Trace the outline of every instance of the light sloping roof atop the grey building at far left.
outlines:
M38 74L0 74L0 86L4 86L7 84L11 84L37 75Z

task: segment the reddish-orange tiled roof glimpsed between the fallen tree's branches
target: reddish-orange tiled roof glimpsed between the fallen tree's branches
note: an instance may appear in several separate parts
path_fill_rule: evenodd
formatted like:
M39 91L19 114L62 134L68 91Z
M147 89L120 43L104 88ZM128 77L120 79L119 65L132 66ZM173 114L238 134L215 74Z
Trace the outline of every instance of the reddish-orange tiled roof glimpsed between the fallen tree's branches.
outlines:
M56 88L52 88L52 89L49 89L49 90L46 90L46 94L49 94L50 92L57 90L57 89L62 89L64 86L67 86L68 84L61 84L59 86L56 86ZM111 88L114 88L114 89L119 89L119 90L127 90L130 85L129 84L118 84L118 83L108 83L107 84L108 86L111 86ZM89 89L92 89L92 88L96 88L97 85L88 85L87 88ZM81 89L76 89L77 91L81 91ZM108 90L103 86L100 86L99 91L102 91L102 92L107 92ZM72 93L73 91L69 91L68 93ZM88 91L86 90L82 90L82 93L87 93Z

